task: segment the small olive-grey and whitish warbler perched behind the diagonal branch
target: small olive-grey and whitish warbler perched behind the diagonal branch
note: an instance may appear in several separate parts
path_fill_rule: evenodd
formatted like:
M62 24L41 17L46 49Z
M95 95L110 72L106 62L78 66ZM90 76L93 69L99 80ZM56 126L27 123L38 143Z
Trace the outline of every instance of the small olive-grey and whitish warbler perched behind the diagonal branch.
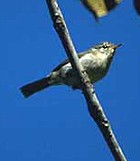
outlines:
M96 83L107 74L115 50L121 45L103 42L78 54L79 62L88 74L91 83ZM25 97L29 97L44 88L55 85L68 85L73 89L80 89L77 74L73 70L69 59L54 68L48 76L29 83L21 87L20 90Z

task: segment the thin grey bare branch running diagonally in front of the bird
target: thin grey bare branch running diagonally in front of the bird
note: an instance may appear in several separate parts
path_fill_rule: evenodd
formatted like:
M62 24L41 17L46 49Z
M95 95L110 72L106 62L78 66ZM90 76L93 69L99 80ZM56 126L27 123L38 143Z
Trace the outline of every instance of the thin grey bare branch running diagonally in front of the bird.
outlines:
M77 77L79 78L79 83L85 96L91 117L95 120L99 129L101 130L102 135L104 136L104 139L106 140L115 160L126 161L126 158L115 138L115 135L113 134L109 121L97 99L94 89L92 88L92 84L90 83L88 75L84 71L82 65L79 63L77 53L75 51L73 42L70 38L67 26L64 22L63 15L57 4L57 1L46 0L46 3L50 11L54 28L56 29L61 39L73 69L75 72L77 72Z

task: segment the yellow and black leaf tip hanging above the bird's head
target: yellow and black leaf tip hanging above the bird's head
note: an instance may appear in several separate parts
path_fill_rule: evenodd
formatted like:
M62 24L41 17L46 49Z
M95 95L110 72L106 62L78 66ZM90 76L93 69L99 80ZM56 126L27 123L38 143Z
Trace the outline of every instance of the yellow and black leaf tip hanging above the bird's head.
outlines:
M121 0L81 0L81 2L98 19L107 15Z

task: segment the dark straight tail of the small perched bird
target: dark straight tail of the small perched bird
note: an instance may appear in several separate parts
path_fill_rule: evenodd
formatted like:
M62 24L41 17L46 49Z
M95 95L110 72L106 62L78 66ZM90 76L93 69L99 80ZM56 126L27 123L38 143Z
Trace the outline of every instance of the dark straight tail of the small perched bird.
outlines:
M25 97L29 97L32 94L50 86L51 84L49 83L49 80L49 77L42 78L40 80L37 80L35 82L29 83L21 87L20 90Z

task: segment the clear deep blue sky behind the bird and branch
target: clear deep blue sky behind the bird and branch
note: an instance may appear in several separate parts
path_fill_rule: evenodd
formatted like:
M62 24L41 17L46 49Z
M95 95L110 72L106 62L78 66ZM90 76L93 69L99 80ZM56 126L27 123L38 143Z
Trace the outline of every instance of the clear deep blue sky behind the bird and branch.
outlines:
M99 100L128 160L140 160L140 17L132 1L96 23L76 0L60 0L77 52L102 41L123 43ZM44 77L66 58L45 0L1 0L0 160L112 161L80 91L51 87L23 98L22 85Z

